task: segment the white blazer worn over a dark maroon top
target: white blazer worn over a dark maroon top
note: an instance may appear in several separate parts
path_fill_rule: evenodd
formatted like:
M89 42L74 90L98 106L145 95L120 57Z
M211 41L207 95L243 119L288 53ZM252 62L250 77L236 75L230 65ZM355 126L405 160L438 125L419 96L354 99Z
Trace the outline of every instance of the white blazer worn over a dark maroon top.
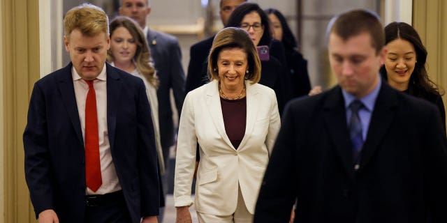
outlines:
M214 80L186 95L179 122L175 164L175 206L191 206L191 185L200 144L195 208L210 215L231 215L237 206L238 185L245 205L254 214L281 121L274 91L245 82L247 124L237 150L228 138L218 82Z

